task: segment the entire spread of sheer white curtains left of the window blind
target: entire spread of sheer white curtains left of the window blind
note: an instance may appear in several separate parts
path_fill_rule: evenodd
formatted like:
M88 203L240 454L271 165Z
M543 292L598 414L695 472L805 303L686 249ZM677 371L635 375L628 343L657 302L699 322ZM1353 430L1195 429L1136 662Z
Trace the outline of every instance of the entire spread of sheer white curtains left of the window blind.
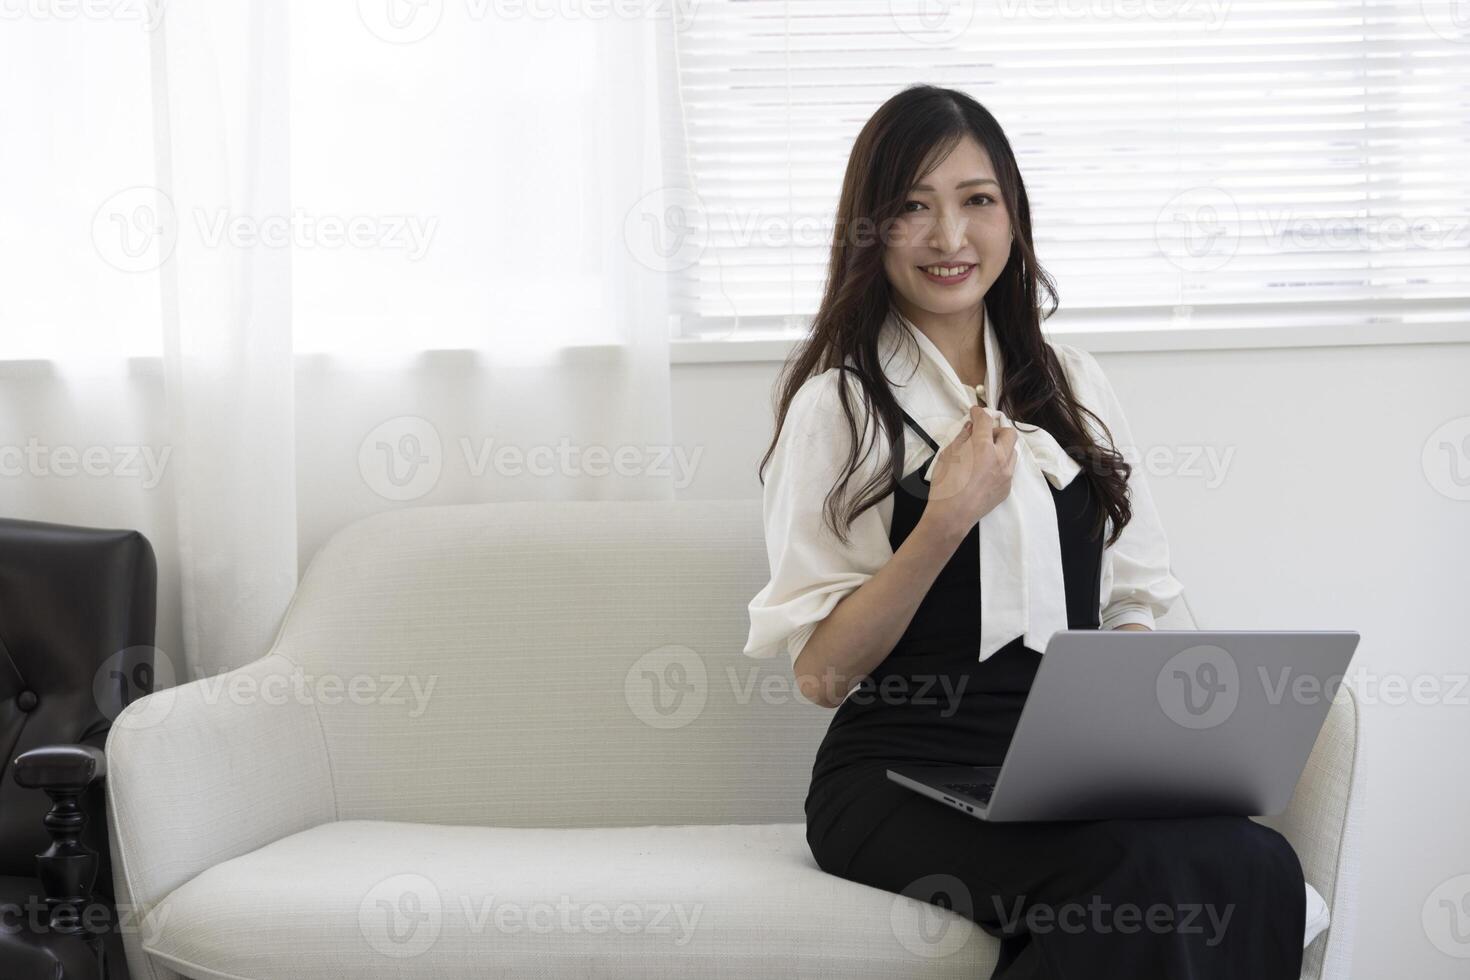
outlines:
M3 120L0 450L153 466L9 466L0 513L148 535L163 683L262 655L354 517L681 478L648 241L670 25L378 6L7 24L38 104Z

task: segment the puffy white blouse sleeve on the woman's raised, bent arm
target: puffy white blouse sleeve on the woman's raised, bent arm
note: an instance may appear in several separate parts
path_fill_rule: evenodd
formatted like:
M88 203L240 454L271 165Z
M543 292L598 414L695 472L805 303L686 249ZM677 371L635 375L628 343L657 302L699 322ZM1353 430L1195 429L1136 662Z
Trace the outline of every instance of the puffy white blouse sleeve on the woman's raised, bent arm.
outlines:
M851 445L836 398L839 373L829 369L797 389L766 469L761 500L770 580L748 605L750 638L742 651L748 657L775 657L785 648L795 664L817 623L892 557L882 504L853 520L845 545L826 525L823 501L842 475ZM869 423L861 436L860 447L869 451L841 498L844 507L882 464L878 457L886 457L870 445L872 429Z

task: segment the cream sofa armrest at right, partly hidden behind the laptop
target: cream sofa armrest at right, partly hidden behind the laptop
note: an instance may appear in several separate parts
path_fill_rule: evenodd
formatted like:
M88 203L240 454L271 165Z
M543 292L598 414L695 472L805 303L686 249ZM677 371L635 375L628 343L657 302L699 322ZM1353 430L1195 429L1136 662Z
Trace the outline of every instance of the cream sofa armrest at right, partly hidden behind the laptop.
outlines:
M1357 699L1344 683L1286 811L1260 818L1291 842L1307 882L1326 899L1332 915L1327 933L1307 948L1302 980L1348 980L1351 974L1364 795L1361 758Z

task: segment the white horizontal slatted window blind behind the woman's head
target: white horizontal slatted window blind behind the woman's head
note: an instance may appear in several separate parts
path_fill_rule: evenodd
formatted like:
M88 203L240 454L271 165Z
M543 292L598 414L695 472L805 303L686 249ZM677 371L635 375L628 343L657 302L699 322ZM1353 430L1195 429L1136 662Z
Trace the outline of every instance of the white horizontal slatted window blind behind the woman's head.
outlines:
M1072 328L1470 309L1463 1L701 0L675 37L684 336L810 322L853 140L917 81L1005 129Z

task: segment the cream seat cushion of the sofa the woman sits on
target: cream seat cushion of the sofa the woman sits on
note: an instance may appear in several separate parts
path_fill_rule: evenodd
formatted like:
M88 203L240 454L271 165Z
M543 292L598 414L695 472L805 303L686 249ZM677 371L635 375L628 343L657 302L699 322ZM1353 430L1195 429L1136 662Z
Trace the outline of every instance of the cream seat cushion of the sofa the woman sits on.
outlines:
M151 914L188 977L973 977L1000 948L822 871L803 824L325 823L218 864Z

